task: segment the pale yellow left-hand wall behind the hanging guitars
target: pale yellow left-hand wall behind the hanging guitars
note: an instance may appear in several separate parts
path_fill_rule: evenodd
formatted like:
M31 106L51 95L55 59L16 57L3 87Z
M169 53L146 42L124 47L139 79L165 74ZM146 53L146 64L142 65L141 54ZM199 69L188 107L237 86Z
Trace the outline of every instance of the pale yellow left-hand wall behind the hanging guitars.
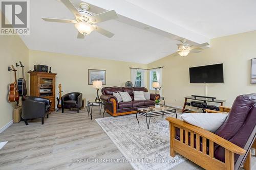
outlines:
M0 16L1 17L1 16ZM14 82L14 72L8 71L8 66L14 65L22 61L25 65L25 76L28 80L28 63L29 63L29 51L24 42L19 36L0 36L0 129L12 121L12 111L15 107L15 103L8 102L9 84ZM15 67L17 69L17 79L22 78L22 68Z

